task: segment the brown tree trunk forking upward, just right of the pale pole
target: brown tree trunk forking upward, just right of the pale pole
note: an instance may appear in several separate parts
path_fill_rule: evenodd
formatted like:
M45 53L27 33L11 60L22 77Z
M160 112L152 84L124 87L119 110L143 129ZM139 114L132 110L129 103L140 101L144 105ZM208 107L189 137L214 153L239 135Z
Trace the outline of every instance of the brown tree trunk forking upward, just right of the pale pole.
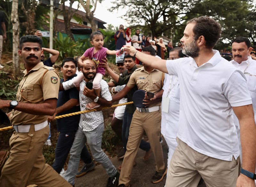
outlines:
M65 30L68 36L71 38L71 40L74 41L74 36L70 30L70 20L72 19L73 15L76 13L76 11L79 8L79 3L77 5L77 9L73 9L72 5L76 0L69 0L69 7L66 9L65 2L67 0L62 0L62 12L63 12L63 18L64 18L64 24L65 24Z

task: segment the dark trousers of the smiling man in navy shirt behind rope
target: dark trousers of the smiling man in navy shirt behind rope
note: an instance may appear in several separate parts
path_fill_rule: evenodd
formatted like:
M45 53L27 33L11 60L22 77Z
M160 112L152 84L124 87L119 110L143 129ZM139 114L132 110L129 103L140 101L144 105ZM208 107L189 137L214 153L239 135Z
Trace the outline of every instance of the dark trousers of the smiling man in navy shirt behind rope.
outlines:
M52 164L52 168L60 173L63 168L70 148L73 144L76 132L60 132L56 149L55 149L55 161ZM80 154L80 158L86 163L89 164L92 162L91 155L89 154L86 146L84 146L82 153Z

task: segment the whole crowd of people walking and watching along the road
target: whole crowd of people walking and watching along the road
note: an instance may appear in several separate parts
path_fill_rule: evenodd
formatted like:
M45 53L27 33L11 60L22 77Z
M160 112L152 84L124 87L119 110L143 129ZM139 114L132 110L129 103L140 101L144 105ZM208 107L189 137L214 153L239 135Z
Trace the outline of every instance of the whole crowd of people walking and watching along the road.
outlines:
M124 31L120 25L116 50L104 48L103 35L93 32L93 47L76 60L64 59L60 79L49 67L58 53L42 48L38 33L20 38L18 52L26 70L16 100L0 100L0 108L12 109L7 115L14 128L0 187L75 186L75 177L95 168L92 157L106 170L107 187L129 187L139 148L145 151L143 160L154 155L152 183L167 175L166 187L196 187L201 181L214 187L255 187L256 61L248 38L232 41L229 62L213 49L221 26L212 18L189 20L178 47L171 42L166 47L163 38L150 41L139 29L131 36L131 29ZM44 61L47 50L53 57ZM108 66L107 54L116 55L120 75ZM136 65L140 63L141 67ZM105 71L112 82L102 79ZM133 101L117 107L111 123L124 145L117 155L124 159L118 168L101 149L101 108L115 101ZM46 164L42 147L49 136L48 122L94 108L57 120L55 161L52 166ZM142 140L144 132L148 142ZM169 149L167 166L161 134ZM62 177L68 153L68 169ZM84 166L78 171L80 158Z

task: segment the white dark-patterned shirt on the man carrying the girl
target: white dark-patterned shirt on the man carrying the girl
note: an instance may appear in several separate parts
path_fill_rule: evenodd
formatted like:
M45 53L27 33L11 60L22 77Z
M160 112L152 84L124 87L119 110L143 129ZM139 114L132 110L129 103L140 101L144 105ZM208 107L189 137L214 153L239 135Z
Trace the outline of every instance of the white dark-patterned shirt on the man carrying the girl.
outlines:
M91 98L88 98L83 94L85 84L86 83L84 80L80 82L79 100L80 100L81 111L86 110L85 105L93 101ZM112 96L109 92L108 84L105 80L102 80L102 79L100 80L100 88L101 88L100 97L103 99L106 99L107 101L112 101ZM104 119L103 119L102 111L88 112L88 113L81 114L79 127L83 131L92 131L103 122L104 122Z

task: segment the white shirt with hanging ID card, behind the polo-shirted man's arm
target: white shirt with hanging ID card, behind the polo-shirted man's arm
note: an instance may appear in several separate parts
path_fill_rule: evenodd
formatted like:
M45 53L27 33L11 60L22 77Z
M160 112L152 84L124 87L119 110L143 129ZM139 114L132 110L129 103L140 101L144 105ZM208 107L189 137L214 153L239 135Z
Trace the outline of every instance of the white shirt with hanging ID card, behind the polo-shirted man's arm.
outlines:
M169 98L169 108L168 113L163 111L164 100L162 100L161 133L164 137L176 138L180 116L180 85L178 77L165 73L163 90L163 98Z

